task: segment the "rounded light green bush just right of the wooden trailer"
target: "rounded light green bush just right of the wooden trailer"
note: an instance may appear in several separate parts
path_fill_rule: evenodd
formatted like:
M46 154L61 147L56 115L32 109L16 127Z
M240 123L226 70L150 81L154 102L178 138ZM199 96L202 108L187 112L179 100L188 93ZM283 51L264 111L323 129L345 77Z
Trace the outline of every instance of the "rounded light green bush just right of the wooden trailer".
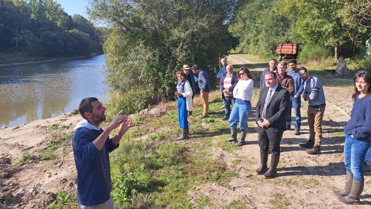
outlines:
M320 44L309 44L303 46L299 53L299 61L301 63L308 63L310 61L325 61L328 56L331 55L331 51Z

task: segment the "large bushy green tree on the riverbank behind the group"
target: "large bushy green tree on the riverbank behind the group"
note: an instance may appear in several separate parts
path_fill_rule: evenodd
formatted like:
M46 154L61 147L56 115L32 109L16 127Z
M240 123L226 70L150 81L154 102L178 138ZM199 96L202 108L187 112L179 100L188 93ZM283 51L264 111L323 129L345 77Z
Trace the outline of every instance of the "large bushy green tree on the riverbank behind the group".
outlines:
M172 96L174 73L185 63L198 64L214 80L220 58L237 45L225 24L235 3L91 0L92 17L113 27L104 45L110 86L124 94L146 90L143 98Z

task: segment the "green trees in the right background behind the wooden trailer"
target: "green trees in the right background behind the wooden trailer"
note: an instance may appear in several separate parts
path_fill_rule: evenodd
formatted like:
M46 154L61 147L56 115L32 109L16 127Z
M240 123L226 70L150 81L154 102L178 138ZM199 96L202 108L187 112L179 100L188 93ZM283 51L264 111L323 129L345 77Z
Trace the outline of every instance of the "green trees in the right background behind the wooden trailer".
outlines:
M319 44L335 59L349 58L365 53L370 5L370 0L240 0L229 30L239 37L239 50L260 56L275 54L278 42L293 42Z

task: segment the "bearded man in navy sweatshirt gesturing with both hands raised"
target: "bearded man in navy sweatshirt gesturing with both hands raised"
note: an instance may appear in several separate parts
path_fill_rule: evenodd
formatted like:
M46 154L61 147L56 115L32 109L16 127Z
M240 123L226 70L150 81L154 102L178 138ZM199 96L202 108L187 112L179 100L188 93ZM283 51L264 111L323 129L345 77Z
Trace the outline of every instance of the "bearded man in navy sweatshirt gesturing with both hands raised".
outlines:
M73 158L77 169L77 202L80 209L113 209L112 182L108 153L119 146L119 142L131 127L132 118L120 111L103 130L106 108L95 97L81 101L79 112L84 118L75 127L72 139ZM112 130L117 134L109 138Z

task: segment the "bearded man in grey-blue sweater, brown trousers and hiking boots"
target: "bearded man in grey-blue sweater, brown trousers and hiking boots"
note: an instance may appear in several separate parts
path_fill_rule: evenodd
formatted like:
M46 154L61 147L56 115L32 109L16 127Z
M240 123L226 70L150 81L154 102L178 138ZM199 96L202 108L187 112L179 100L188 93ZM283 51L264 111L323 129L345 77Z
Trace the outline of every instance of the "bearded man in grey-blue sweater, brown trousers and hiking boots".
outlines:
M306 68L299 68L298 71L300 77L305 80L303 98L304 101L308 101L309 125L309 139L299 146L311 148L306 150L308 154L321 154L322 119L326 106L324 89L321 81L314 76L309 76Z

